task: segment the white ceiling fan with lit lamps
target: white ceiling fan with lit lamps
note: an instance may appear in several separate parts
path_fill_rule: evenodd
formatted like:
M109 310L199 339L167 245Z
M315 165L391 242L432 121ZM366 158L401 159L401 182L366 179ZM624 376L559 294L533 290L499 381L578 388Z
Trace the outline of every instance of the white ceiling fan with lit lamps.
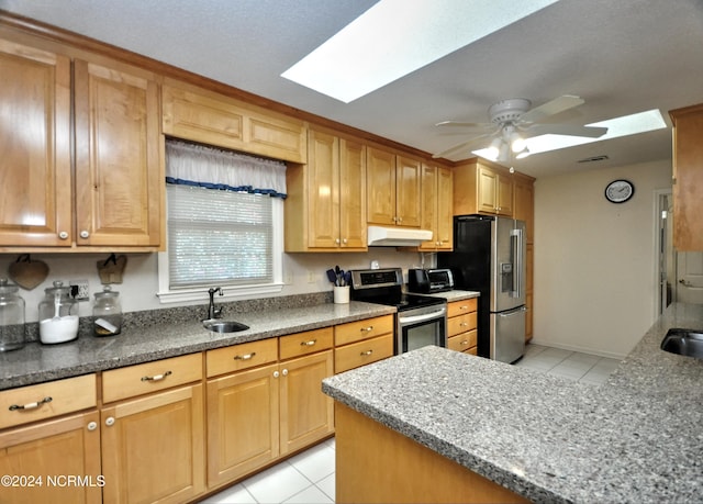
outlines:
M461 142L454 147L433 157L446 157L461 150L488 146L488 157L496 161L507 161L514 155L516 159L529 156L525 141L534 136L554 134L569 136L585 136L598 138L607 133L607 127L578 126L571 124L540 124L546 117L558 114L585 103L580 97L563 94L547 103L531 109L532 102L525 98L510 98L493 103L488 109L489 123L465 123L458 121L443 121L435 124L442 127L465 127L481 133ZM489 143L490 139L490 143Z

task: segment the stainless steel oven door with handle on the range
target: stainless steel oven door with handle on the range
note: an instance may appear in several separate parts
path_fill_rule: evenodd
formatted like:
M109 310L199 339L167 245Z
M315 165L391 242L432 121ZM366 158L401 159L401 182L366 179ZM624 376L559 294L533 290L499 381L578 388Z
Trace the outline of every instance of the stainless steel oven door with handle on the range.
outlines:
M427 345L447 346L447 306L445 304L398 312L395 354Z

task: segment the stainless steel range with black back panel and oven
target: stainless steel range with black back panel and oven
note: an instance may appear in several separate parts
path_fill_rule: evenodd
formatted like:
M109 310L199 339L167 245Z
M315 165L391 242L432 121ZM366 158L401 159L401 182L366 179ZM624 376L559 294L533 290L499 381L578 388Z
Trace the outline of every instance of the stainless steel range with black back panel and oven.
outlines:
M427 345L447 346L446 300L403 292L400 268L353 270L352 299L398 309L395 355Z

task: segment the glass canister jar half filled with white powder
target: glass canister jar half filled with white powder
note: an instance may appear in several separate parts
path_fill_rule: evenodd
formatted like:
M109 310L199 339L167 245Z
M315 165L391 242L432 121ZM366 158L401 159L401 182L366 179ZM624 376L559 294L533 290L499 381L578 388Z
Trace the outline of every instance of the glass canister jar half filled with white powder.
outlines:
M55 281L44 289L40 303L40 339L45 344L64 343L78 336L78 301L71 299L70 287Z

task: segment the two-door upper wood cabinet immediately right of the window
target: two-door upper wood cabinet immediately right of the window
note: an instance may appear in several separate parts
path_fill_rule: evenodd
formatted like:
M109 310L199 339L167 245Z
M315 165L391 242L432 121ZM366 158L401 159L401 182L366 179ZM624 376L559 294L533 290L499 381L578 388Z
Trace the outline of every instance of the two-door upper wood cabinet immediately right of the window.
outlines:
M311 128L308 150L286 173L286 251L367 250L366 146Z

